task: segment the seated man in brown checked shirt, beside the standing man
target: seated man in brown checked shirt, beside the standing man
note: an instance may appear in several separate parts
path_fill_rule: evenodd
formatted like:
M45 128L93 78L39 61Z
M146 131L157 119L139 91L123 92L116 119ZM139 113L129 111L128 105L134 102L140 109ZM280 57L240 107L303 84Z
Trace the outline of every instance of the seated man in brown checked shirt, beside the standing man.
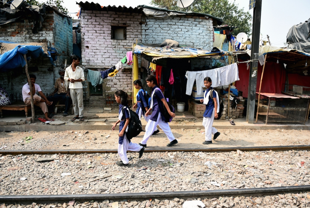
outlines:
M64 100L65 103L65 109L64 109L64 114L63 116L68 116L68 111L71 105L71 98L70 98L70 91L68 90L68 86L69 86L69 82L64 80L64 69L60 69L58 71L60 78L56 79L55 81L55 90L54 92L49 95L47 97L48 100L53 101L53 104L48 106L48 111L51 113L48 117L53 117L56 115L56 113L54 112L54 107L55 104L59 101L59 100Z

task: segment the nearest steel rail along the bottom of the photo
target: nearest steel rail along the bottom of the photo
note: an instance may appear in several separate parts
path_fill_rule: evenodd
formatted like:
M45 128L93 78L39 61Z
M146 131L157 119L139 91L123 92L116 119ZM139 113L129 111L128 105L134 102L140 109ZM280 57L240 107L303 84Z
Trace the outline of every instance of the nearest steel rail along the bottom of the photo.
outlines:
M107 194L67 194L67 195L0 195L0 201L62 201L62 200L103 200L103 199L150 199L150 198L186 198L186 197L216 197L216 196L250 196L273 195L278 193L297 193L310 191L310 185L282 186L270 188L241 188L205 191L174 191L148 193L107 193Z

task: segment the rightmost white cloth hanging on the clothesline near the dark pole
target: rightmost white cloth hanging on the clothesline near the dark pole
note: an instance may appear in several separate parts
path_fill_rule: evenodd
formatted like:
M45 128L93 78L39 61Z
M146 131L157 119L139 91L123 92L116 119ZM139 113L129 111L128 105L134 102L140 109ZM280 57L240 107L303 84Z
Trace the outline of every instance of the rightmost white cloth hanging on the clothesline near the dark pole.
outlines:
M237 63L217 68L220 74L219 86L229 85L239 80L239 71ZM213 82L212 82L213 84Z

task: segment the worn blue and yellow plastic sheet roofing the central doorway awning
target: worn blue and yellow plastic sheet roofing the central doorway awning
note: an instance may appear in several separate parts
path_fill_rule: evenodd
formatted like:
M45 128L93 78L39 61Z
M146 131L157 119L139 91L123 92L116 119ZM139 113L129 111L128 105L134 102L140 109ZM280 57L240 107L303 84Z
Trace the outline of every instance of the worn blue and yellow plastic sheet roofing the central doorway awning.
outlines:
M210 52L197 48L177 48L177 47L151 47L144 45L135 46L135 54L149 55L162 58L193 58L193 57L209 57L222 55L222 52Z

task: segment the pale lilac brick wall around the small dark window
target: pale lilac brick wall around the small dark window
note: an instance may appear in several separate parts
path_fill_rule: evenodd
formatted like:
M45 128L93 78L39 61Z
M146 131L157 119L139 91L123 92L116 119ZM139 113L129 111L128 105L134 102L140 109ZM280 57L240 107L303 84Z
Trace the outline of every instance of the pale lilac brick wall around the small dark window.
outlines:
M132 43L141 42L141 14L112 11L82 11L82 65L110 68L117 64ZM126 24L126 40L111 39L111 24Z

